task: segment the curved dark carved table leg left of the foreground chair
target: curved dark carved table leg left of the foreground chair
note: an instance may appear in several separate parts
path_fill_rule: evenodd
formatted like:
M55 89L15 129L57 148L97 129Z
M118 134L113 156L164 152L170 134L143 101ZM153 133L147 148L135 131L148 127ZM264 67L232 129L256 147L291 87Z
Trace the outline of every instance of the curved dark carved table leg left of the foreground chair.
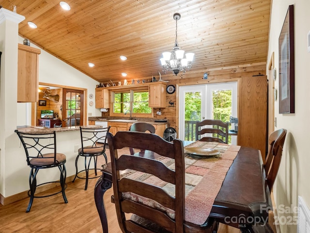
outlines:
M110 179L105 179L104 173L102 177L99 178L94 189L94 199L97 207L97 211L100 217L103 233L108 233L108 221L105 209L105 203L103 201L103 195L105 192L112 187L112 181Z

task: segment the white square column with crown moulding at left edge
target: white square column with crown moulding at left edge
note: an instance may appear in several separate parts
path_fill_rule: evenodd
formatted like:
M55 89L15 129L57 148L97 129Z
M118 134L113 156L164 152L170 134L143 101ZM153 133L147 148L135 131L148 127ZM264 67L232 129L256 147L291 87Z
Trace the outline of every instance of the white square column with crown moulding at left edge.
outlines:
M18 24L24 19L12 11L0 9L0 195L3 197L7 178L14 166L12 148L18 139L14 135L17 118Z

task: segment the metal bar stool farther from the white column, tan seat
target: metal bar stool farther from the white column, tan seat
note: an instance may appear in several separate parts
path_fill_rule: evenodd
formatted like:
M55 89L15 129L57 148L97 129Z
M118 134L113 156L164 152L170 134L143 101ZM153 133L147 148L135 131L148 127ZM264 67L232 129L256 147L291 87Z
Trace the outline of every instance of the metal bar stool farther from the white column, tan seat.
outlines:
M87 190L88 179L93 179L101 176L101 174L97 175L97 158L99 155L103 155L105 157L106 163L107 155L106 155L106 135L110 130L110 126L107 128L86 128L80 127L81 133L81 144L82 147L78 149L78 156L76 158L76 176L73 181L78 177L80 179L85 179L85 190ZM78 171L78 158L79 156L84 157L84 166L85 169ZM94 161L94 168L90 168L91 161ZM95 177L89 177L89 170L94 170ZM78 176L80 172L85 172L85 177Z

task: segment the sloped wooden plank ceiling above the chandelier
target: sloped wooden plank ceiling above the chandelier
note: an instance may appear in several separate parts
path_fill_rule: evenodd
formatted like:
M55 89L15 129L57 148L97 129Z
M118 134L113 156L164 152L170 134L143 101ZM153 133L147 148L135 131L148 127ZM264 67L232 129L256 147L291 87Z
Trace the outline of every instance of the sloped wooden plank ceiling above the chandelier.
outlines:
M181 14L179 46L195 53L188 72L266 62L270 0L67 0L70 11L59 2L0 5L8 10L16 5L26 17L21 36L98 82L122 81L122 72L129 81L164 74L159 59L174 46L174 13Z

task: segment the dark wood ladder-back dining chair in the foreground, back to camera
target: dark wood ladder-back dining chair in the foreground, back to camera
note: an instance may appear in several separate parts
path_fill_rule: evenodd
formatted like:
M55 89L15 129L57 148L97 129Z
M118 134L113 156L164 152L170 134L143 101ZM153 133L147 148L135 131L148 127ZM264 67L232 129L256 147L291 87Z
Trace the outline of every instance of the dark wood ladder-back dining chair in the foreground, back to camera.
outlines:
M204 225L185 221L185 159L181 140L175 139L171 143L153 133L131 131L120 131L115 136L107 133L107 137L114 190L112 202L123 233L212 233L217 230L217 222L213 218L208 218ZM121 152L128 147L174 159L175 167L171 169L159 160L126 154L124 150ZM175 185L175 196L155 183L125 177L124 170L127 169L129 172L148 173L161 183ZM128 217L125 213L133 215Z

